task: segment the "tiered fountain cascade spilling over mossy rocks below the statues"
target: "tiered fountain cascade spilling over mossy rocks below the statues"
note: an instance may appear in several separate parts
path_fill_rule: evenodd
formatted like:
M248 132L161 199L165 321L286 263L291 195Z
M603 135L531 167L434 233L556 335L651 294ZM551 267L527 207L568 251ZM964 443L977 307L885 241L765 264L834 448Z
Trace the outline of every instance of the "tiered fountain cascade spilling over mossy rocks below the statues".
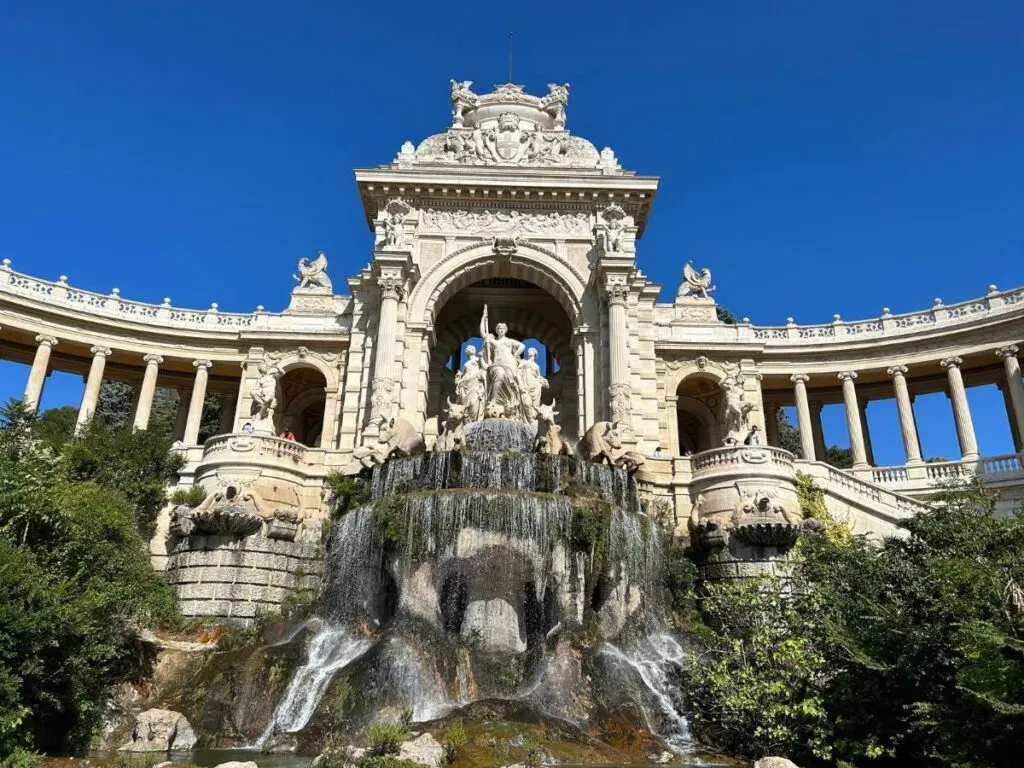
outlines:
M351 727L381 709L422 721L477 698L583 724L604 695L587 669L608 660L646 691L642 725L687 738L679 646L658 634L663 544L632 478L529 453L524 425L485 420L471 437L461 453L376 468L368 503L336 521L323 627L260 745L311 727L335 676L358 690Z

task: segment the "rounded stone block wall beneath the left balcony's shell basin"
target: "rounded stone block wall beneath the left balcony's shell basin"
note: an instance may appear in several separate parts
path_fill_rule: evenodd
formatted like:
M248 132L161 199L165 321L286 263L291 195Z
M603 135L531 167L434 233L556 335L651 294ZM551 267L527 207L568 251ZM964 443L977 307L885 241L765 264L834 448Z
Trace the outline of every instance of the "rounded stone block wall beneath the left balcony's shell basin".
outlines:
M249 625L258 615L280 610L297 591L315 594L324 572L319 531L305 528L302 534L295 542L263 534L178 539L168 558L167 578L181 612Z

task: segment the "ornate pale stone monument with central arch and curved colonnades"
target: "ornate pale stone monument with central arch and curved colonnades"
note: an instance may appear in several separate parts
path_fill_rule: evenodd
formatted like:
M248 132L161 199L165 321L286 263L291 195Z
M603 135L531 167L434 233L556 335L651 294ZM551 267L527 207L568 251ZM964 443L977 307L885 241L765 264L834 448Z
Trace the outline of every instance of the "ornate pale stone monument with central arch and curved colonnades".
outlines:
M572 134L568 97L567 85L532 95L453 81L447 127L355 171L367 266L341 280L328 255L309 254L282 311L144 304L0 265L2 354L31 366L30 406L51 371L80 373L84 424L118 379L134 391L130 423L146 429L157 390L178 390L179 484L208 495L190 511L169 505L153 550L185 612L245 617L280 603L321 567L329 473L456 450L488 420L532 430L529 450L613 444L611 460L680 535L728 528L743 510L792 512L798 471L873 534L950 477L982 477L1007 509L1022 496L1024 289L758 327L719 319L711 271L687 262L662 300L643 261L676 256L641 247L659 179ZM966 392L990 383L1018 453L978 450ZM958 457L922 456L913 399L931 392L949 398ZM201 441L211 396L219 434ZM897 466L874 466L865 413L879 399L895 399ZM845 409L852 468L825 461L827 403ZM782 408L795 408L796 454L779 446Z

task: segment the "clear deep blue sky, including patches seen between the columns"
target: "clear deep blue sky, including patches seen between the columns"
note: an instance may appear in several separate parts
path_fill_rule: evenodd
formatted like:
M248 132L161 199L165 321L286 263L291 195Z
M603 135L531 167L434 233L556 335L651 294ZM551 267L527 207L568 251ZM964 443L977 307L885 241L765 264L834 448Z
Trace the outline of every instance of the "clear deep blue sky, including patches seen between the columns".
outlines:
M1024 283L1024 4L985 0L4 3L0 257L236 310L283 307L315 249L341 283L371 247L351 169L443 130L449 78L505 81L509 31L516 82L571 83L568 128L663 177L639 261L666 296L687 258L762 324ZM941 400L926 453L952 455ZM1011 450L1001 401L972 404Z

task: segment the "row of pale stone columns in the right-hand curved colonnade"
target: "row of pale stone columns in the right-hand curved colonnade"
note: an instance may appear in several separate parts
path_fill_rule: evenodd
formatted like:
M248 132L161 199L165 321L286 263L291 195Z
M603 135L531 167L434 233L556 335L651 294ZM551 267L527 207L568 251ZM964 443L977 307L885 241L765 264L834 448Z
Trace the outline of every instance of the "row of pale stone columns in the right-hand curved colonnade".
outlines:
M993 350L1002 361L1006 380L999 384L1007 403L1007 414L1014 435L1016 451L1024 450L1021 435L1024 435L1024 380L1021 378L1020 361L1017 357L1020 348L1016 344L999 347ZM945 372L945 390L952 406L953 422L959 442L961 459L975 461L980 458L978 440L975 434L974 421L968 402L967 389L962 372L964 359L957 356L944 357L939 366ZM900 435L903 442L905 463L915 465L923 463L921 441L918 434L916 419L913 413L912 397L907 385L907 374L910 367L898 364L886 369L899 417ZM867 400L860 398L857 389L858 372L843 371L837 375L842 386L843 404L846 414L847 430L850 436L850 451L853 457L853 468L863 469L874 464L870 433L867 428ZM793 385L793 399L797 408L797 426L800 431L800 445L805 458L824 460L824 432L821 428L821 409L824 403L811 399L807 383L810 377L805 373L790 376ZM777 402L766 403L765 414L769 425L768 441L778 444Z

